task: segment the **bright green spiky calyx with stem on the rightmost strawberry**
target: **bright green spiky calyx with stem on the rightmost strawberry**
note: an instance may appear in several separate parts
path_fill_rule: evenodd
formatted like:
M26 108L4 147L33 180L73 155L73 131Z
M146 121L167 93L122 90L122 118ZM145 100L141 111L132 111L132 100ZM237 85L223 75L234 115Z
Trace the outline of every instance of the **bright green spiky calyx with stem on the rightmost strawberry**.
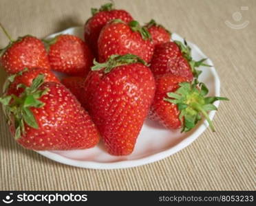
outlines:
M217 107L213 102L228 100L228 98L206 97L209 91L202 82L198 84L181 82L179 85L180 87L175 92L167 93L168 98L164 98L164 100L178 106L180 111L179 119L182 122L181 132L187 132L194 128L202 117L206 118L211 130L214 132L215 128L208 112L217 111Z

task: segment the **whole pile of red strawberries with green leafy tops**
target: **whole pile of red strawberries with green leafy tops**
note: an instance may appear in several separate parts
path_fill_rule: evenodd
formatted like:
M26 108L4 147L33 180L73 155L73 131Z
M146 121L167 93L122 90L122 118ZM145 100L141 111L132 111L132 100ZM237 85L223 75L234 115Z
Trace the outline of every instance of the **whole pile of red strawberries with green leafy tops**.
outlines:
M84 31L85 41L69 34L14 41L3 28L10 43L1 49L8 79L0 102L19 144L74 150L102 139L109 154L129 155L147 117L186 132L204 116L214 130L207 113L227 99L206 97L196 68L208 65L191 58L185 41L171 41L153 20L140 26L112 3L92 9Z

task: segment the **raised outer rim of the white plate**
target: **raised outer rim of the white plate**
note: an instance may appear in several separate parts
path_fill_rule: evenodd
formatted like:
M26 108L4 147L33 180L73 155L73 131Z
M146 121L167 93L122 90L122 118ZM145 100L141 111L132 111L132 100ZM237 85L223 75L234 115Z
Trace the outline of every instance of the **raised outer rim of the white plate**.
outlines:
M62 32L51 34L47 37L50 38L50 37L56 36L58 34L69 34L71 30L81 30L81 29L82 29L82 27L70 27L66 30L63 30ZM172 39L173 38L176 39L176 38L182 38L182 37L178 34L172 33ZM206 64L212 66L212 67L209 67L208 69L214 78L214 90L215 90L214 95L220 96L220 78L217 75L217 71L215 70L213 62L201 51L201 49L197 45L195 45L189 41L187 41L187 43L189 44L191 49L193 51L196 51L198 54L200 54L200 56L202 56L202 58L207 58L205 61ZM217 101L214 103L214 105L216 107L218 107L219 104L220 104L220 101ZM211 120L213 119L215 112L216 111L211 111L209 113L209 117ZM198 128L196 128L193 131L193 133L191 133L191 135L189 135L188 137L186 137L185 139L180 141L175 146L173 146L167 150L164 150L162 152L158 152L154 155L149 155L148 157L143 157L140 159L116 161L116 162L111 162L111 163L102 163L102 162L95 162L95 161L79 161L79 160L75 160L75 159L68 159L67 157L63 157L61 155L58 155L58 154L56 154L54 152L50 152L50 151L35 151L35 152L38 152L39 154L43 155L44 157L47 157L47 158L57 161L59 163L64 163L66 165L72 165L72 166L75 166L78 168L89 168L89 169L99 169L99 170L133 168L133 167L136 167L139 165L145 165L148 163L153 163L155 161L159 161L161 159L164 159L166 157L169 157L169 156L175 154L175 152L178 152L178 151L182 150L183 148L186 148L186 146L189 146L193 141L195 141L195 139L197 139L204 132L204 130L206 130L206 128L208 126L209 126L209 124L206 122L206 120L204 120L204 122L200 122L200 125L198 126Z

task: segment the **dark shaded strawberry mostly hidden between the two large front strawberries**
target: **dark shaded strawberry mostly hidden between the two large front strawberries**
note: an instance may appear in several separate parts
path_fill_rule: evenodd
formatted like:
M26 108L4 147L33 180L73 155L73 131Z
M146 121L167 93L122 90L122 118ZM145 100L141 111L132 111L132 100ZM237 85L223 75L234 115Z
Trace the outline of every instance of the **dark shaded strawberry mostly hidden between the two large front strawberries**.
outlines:
M70 89L71 93L77 98L77 100L83 105L83 95L85 89L85 78L81 77L67 77L61 80L67 89Z

